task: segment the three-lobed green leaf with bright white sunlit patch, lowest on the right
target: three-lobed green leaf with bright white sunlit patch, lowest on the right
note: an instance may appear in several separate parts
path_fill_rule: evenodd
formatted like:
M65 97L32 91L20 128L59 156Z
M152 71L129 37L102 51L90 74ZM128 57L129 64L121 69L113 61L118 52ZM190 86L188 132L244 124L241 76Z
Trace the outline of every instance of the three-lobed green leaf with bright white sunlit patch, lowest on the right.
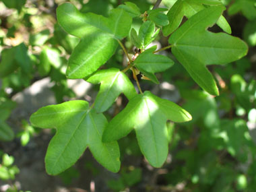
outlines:
M144 92L132 98L108 123L102 141L125 137L134 128L142 154L152 166L160 167L168 154L167 119L184 122L190 121L191 115L169 100Z

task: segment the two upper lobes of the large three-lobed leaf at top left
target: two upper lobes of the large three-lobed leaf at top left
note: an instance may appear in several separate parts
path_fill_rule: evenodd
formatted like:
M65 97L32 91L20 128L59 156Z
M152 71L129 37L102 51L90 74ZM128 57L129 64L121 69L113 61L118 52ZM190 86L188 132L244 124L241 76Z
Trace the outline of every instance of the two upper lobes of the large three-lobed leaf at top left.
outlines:
M116 38L124 38L131 28L131 16L124 9L112 9L110 17L94 13L80 13L71 3L63 3L57 8L57 20L63 29L83 38L94 32L105 32Z

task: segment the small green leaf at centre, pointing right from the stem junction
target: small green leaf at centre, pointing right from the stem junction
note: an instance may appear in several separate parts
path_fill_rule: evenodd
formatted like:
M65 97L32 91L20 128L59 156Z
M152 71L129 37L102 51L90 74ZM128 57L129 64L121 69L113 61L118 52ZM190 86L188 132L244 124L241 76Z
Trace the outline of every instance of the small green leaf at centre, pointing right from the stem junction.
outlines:
M174 62L164 55L156 55L147 51L139 54L134 64L143 75L149 77L152 82L159 84L154 73L165 71L171 67Z

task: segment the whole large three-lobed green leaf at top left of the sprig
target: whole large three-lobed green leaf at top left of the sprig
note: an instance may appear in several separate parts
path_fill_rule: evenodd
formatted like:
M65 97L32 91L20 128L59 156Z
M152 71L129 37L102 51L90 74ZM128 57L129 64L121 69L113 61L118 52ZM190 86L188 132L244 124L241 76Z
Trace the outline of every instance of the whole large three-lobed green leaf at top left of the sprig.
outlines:
M129 34L132 18L124 9L113 9L110 17L80 13L71 3L57 8L57 20L63 29L82 38L69 59L67 77L83 78L98 69L115 53L117 41Z

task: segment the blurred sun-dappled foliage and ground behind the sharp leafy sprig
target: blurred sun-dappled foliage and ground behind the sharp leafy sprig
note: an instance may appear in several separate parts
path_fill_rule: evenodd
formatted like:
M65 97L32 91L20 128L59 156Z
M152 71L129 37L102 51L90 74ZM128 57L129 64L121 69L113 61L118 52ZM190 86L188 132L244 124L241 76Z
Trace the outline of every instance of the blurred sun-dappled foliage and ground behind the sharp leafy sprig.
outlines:
M168 123L169 155L162 168L146 162L132 132L119 140L119 173L102 168L87 150L75 166L52 177L44 170L44 155L54 133L30 126L30 115L40 106L71 99L92 103L98 91L98 86L82 79L65 77L78 39L57 24L55 10L63 2L0 1L0 191L256 191L256 1L222 1L232 35L249 44L249 53L234 63L210 66L220 96L205 94L177 61L158 74L159 85L141 79L143 90L177 102L193 116L189 123ZM124 1L70 2L82 12L106 16ZM156 3L132 2L142 13ZM160 7L174 2L162 1ZM133 27L140 24L137 20ZM221 31L218 26L210 30ZM131 40L123 42L133 53ZM154 44L167 46L168 40L160 34ZM170 50L163 54L173 59ZM119 47L104 67L123 65ZM111 119L126 104L127 99L119 96L106 117Z

